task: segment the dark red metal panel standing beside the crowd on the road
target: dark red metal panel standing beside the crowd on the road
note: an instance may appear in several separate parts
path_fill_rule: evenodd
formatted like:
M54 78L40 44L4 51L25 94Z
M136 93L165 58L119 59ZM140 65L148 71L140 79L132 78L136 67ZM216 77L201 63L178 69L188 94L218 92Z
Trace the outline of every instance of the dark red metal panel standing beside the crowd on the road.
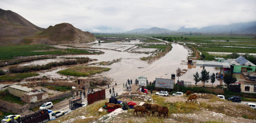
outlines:
M106 99L105 89L103 89L101 91L96 91L94 93L87 95L88 105L92 104L95 101L105 100L105 99Z

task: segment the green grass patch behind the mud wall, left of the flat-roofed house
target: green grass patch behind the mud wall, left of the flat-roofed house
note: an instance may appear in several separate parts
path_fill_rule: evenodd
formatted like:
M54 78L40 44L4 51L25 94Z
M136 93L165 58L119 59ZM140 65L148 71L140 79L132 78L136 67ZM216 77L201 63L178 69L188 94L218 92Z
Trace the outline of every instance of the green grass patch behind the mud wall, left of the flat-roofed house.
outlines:
M12 94L10 94L7 89L0 91L0 99L8 101L10 103L17 103L20 105L25 104L19 97L13 96Z

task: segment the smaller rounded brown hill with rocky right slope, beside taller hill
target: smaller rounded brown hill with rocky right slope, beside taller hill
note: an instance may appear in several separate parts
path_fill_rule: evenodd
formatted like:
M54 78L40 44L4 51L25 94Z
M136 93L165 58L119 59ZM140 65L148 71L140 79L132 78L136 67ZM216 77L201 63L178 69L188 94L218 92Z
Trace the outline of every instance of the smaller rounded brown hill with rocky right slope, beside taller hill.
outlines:
M22 39L21 44L58 44L58 43L86 43L96 38L90 32L77 29L69 23L49 26L35 36Z

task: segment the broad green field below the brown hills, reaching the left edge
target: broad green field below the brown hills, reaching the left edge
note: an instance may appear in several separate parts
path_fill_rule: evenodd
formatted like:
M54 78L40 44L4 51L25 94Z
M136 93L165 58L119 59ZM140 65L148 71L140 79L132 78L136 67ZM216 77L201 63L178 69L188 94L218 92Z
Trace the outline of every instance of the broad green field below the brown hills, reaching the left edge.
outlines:
M81 49L59 49L50 45L15 45L0 46L0 60L13 59L21 56L36 56L50 54L91 54ZM97 52L94 52L97 53Z

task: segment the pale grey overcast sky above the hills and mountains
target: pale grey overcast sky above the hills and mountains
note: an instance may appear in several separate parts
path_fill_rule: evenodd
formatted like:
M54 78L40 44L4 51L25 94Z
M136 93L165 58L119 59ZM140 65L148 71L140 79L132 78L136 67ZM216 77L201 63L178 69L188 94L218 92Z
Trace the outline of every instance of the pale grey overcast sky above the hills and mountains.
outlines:
M39 27L67 22L90 32L177 30L256 21L256 0L0 0L0 8Z

